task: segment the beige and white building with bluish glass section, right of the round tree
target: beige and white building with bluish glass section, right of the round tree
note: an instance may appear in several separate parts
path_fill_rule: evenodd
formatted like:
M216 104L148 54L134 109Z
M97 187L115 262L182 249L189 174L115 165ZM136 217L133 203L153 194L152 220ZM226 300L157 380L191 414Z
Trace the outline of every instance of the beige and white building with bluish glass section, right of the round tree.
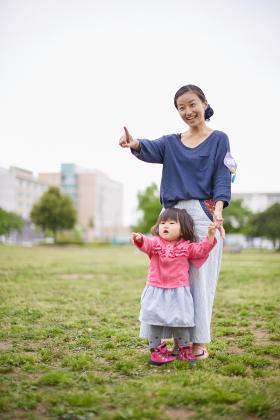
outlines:
M73 163L62 164L60 173L40 173L39 179L72 198L86 240L112 240L123 234L123 187L119 182Z

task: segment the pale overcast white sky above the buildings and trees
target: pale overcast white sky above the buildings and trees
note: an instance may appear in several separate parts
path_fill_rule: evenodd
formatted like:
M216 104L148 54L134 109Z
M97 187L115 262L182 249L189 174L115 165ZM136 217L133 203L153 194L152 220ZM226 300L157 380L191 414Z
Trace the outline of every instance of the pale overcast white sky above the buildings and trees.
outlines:
M185 126L173 105L200 86L238 162L233 192L278 191L278 0L0 0L0 166L99 169L136 194L161 166L118 146Z

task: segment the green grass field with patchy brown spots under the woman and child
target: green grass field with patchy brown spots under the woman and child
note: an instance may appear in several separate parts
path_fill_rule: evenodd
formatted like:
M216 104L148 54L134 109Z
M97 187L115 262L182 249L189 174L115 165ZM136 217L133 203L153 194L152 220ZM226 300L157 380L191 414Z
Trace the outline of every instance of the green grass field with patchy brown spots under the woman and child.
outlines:
M211 357L154 367L132 246L0 247L1 419L280 418L280 254L224 254Z

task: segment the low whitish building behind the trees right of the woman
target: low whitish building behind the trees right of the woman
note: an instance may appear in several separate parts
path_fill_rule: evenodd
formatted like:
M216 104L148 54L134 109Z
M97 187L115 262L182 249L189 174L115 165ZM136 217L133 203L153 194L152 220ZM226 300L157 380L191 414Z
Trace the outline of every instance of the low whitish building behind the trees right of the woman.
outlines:
M253 213L264 211L275 203L280 203L280 193L234 193L233 200L243 200L243 203Z

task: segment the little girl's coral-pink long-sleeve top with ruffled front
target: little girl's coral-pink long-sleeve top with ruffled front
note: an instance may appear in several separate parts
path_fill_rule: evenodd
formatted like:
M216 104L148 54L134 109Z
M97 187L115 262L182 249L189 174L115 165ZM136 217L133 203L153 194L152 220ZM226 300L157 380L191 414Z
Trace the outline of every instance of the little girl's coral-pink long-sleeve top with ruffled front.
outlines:
M142 235L143 242L134 244L150 258L147 285L175 288L189 286L189 263L199 268L209 256L213 244L205 238L203 242L190 242L181 239L166 241L159 236L148 238Z

